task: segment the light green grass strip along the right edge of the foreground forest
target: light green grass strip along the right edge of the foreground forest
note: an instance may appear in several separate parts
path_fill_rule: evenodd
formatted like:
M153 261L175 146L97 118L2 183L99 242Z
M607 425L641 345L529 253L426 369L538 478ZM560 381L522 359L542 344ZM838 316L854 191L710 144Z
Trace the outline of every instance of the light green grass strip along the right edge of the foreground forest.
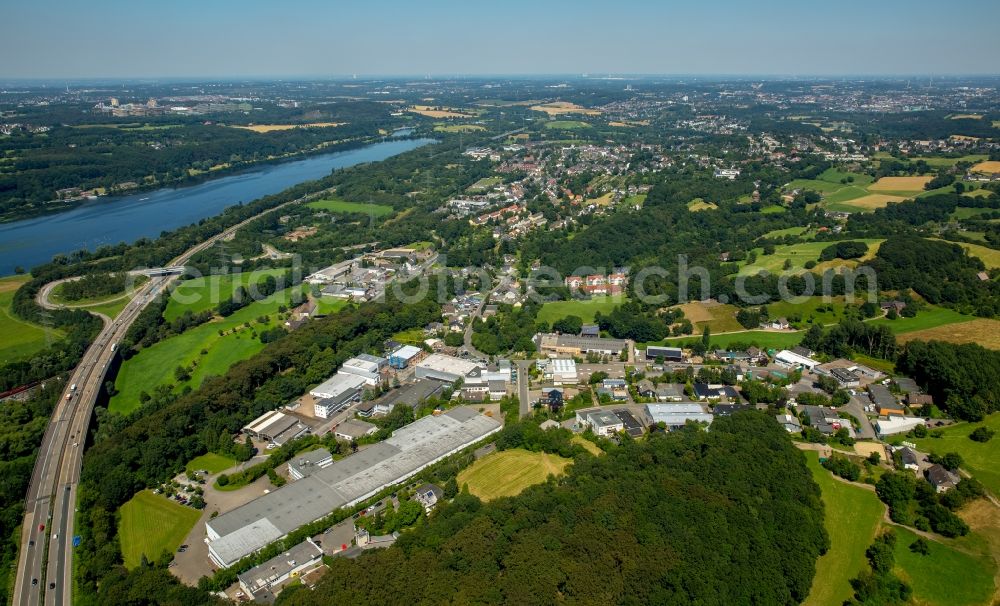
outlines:
M850 580L866 566L865 550L875 537L885 506L874 491L834 479L816 452L805 453L826 508L824 524L830 550L816 561L816 576L805 606L841 604L853 595Z

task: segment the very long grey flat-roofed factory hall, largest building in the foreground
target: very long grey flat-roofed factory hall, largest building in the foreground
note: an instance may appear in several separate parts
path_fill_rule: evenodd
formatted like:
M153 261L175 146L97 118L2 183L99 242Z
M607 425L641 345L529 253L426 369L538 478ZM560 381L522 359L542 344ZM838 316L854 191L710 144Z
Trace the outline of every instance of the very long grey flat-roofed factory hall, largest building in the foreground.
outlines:
M303 524L357 505L501 428L495 419L468 408L423 417L385 441L210 519L205 525L209 556L218 566L231 566Z

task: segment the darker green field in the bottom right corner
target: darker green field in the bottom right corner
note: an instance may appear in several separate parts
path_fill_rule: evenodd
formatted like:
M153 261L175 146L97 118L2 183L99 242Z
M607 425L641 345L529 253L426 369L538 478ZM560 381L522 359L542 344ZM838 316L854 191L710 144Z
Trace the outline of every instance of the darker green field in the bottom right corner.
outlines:
M988 555L972 555L938 541L927 541L930 553L910 551L917 535L905 528L896 533L896 573L913 587L917 604L979 606L993 597L995 564Z

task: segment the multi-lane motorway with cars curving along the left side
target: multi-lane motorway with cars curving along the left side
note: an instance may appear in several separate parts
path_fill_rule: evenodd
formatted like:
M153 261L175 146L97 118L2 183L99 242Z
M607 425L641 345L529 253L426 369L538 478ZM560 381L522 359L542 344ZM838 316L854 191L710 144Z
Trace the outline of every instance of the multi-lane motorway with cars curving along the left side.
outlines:
M250 217L225 231L186 250L173 259L169 266L183 266L194 255L209 248L220 239L228 238L238 229L284 206L300 203L325 192L310 194L285 202ZM14 585L14 604L69 605L73 603L73 536L76 515L76 491L83 464L83 448L93 414L94 404L101 392L105 373L115 348L128 332L139 313L157 295L165 292L180 274L153 276L136 291L128 305L112 321L107 316L104 328L84 353L73 370L66 391L56 404L42 444L35 459L31 483L25 498L24 523L21 532L17 577ZM43 289L39 297L43 307L59 307L48 301L51 288ZM76 389L72 389L75 386ZM44 525L43 530L39 530Z

